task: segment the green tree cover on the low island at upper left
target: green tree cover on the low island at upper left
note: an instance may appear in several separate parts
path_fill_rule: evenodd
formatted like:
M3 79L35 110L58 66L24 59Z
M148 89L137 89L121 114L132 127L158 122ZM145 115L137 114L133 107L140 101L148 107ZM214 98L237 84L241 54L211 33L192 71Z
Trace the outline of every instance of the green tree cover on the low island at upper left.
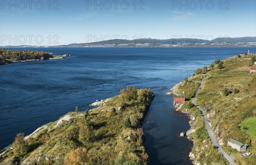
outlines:
M54 56L47 52L38 52L38 51L31 51L31 50L6 50L0 48L0 60L3 59L9 61L20 61L20 60L39 60L41 57L44 59L53 58Z

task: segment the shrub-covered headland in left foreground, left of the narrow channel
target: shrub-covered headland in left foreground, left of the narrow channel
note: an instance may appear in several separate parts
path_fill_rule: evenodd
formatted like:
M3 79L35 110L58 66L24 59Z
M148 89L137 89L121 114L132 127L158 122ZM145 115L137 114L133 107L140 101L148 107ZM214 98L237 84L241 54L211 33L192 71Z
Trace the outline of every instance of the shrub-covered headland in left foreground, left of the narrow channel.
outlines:
M128 86L96 109L68 113L42 126L27 140L17 136L13 150L6 151L1 164L147 164L140 122L153 98L150 89ZM61 123L62 119L66 120Z

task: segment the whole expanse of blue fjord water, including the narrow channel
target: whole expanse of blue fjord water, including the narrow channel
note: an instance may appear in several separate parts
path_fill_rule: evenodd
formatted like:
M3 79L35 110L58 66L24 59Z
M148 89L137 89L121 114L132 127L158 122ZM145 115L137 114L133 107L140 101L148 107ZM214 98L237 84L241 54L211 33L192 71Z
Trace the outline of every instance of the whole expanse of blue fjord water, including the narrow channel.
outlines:
M10 48L23 50L23 48ZM256 48L29 48L65 59L0 66L0 149L79 106L116 96L127 85L155 93L143 121L150 164L189 164L185 114L172 111L169 89L196 68Z

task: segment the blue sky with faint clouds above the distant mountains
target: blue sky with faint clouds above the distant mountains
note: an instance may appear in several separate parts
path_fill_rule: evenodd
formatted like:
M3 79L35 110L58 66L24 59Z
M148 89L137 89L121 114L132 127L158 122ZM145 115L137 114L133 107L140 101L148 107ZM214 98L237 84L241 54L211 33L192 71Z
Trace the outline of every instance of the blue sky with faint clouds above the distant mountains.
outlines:
M0 0L0 35L1 46L254 37L256 0Z

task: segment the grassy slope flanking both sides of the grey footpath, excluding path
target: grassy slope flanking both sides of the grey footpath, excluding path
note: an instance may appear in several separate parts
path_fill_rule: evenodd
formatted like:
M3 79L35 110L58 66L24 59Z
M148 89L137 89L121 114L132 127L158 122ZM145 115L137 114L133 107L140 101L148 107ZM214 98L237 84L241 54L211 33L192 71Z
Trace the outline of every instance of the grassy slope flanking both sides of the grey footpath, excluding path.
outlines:
M207 113L215 138L221 139L224 143L224 151L233 156L237 164L248 165L253 164L256 159L256 73L250 73L250 66L253 65L250 56L236 55L224 60L223 67L219 67L219 64L208 67L211 69L207 72L209 78L205 80L204 87L196 98L197 104ZM184 81L178 87L178 92L185 91L183 95L191 98L191 93L199 87L204 76L205 74L198 74L189 81ZM195 154L195 161L227 164L223 156L212 146L201 112L192 107L189 101L183 106L183 111L186 109L191 116L195 116L195 121L192 122L192 129L195 132L192 131L190 134L195 145L192 151ZM244 126L248 130L241 128ZM241 153L227 145L229 138L249 145L247 152L252 155L240 157Z

